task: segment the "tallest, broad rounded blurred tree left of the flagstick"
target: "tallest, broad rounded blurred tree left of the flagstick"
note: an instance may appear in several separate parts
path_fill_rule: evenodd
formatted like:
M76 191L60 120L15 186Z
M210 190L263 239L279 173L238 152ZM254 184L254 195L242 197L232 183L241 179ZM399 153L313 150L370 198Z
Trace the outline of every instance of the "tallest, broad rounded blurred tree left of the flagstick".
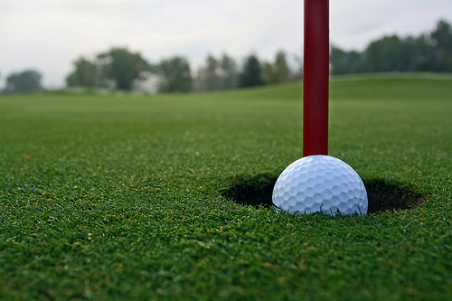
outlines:
M150 64L138 52L112 48L98 55L99 80L111 80L117 89L131 90L135 80L145 80Z

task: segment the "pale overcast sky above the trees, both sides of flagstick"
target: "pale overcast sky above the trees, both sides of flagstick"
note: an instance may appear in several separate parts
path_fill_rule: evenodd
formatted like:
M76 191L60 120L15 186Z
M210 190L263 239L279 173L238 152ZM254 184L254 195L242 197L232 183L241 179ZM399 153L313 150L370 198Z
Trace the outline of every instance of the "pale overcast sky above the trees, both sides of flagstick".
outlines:
M241 61L302 54L303 0L0 0L0 87L14 71L35 69L59 87L83 55L113 46L151 62L184 55L193 67L207 54ZM363 50L386 34L431 32L452 23L452 0L331 0L330 40ZM194 68L193 68L194 69Z

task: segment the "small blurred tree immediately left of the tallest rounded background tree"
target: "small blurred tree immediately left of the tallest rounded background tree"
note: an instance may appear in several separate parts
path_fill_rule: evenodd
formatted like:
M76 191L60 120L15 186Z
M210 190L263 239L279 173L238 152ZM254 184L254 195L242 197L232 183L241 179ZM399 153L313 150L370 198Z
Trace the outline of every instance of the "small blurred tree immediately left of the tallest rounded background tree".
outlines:
M97 66L94 62L80 57L73 62L75 70L66 78L68 87L93 88L97 84Z

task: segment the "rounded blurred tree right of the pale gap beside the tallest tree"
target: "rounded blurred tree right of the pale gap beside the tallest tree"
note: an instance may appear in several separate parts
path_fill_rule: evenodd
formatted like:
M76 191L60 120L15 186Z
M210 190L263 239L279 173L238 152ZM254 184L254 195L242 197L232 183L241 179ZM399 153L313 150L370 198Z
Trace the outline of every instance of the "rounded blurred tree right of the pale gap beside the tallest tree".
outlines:
M193 89L190 63L184 57L161 61L155 67L155 73L160 77L160 92L189 92Z

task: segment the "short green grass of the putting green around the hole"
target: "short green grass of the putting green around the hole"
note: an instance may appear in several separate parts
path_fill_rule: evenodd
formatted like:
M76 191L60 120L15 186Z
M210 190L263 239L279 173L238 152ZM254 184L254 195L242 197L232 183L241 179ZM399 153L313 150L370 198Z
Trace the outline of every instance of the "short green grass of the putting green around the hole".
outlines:
M0 96L0 298L452 298L452 76L331 81L330 155L424 196L365 217L222 196L302 155L301 96Z

